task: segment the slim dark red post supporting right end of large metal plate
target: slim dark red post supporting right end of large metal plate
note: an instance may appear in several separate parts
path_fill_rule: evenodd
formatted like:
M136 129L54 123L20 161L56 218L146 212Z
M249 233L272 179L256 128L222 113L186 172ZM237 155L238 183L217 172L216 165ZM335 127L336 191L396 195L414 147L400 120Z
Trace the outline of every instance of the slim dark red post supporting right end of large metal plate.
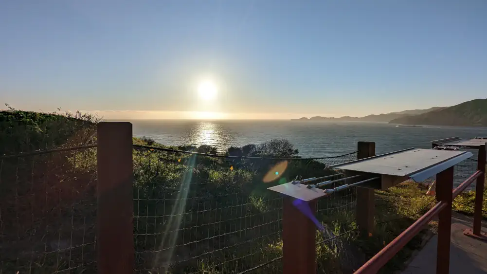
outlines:
M454 167L436 175L436 200L447 202L448 206L438 214L438 246L436 253L436 274L448 274L450 270L451 202Z

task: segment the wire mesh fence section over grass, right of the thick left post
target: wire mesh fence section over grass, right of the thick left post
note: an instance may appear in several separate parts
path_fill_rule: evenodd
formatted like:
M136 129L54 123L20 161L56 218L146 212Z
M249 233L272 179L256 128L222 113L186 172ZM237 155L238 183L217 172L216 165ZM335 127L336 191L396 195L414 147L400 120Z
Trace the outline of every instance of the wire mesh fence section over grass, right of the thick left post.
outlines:
M354 158L211 157L135 147L135 272L278 271L281 263L272 262L282 255L282 197L267 188L328 175L329 165ZM334 210L328 206L321 210Z

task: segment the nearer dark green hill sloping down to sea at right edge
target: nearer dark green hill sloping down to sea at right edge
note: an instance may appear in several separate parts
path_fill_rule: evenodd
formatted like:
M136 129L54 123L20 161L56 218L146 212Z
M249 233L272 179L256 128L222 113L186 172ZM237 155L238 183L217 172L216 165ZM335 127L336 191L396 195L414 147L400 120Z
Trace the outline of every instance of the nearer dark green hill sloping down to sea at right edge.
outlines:
M475 99L420 115L397 117L389 122L405 125L487 126L487 99Z

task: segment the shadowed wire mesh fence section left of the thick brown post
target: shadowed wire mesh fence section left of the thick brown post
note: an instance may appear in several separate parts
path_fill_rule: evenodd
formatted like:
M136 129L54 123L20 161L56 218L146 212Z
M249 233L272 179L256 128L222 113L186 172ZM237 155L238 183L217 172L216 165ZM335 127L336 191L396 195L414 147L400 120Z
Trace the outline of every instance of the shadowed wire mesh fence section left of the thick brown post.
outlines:
M96 269L96 148L0 157L0 273Z

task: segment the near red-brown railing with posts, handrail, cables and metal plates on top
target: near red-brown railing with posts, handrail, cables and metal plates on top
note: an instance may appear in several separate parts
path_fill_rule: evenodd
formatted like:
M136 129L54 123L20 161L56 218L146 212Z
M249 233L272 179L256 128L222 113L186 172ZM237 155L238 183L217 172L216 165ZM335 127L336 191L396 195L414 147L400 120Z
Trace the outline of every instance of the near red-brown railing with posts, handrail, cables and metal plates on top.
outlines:
M296 201L300 201L301 205L306 205L308 215L314 215L318 198L332 195L342 189L359 186L357 188L357 198L358 189L363 189L367 190L364 196L369 196L372 193L373 201L373 188L390 187L409 178L420 181L434 175L437 175L438 181L436 191L438 203L381 252L364 264L356 273L376 273L423 228L424 224L428 223L436 215L438 215L437 273L448 273L453 196L458 195L473 180L484 174L482 171L477 171L477 173L462 183L452 195L453 168L454 165L472 155L471 152L465 151L412 148L379 156L370 155L371 157L331 166L334 169L344 170L345 178L327 180L333 176L343 175L343 173L337 173L332 176L308 178L268 188L285 196L282 220L283 273L316 273L316 226L311 217L300 212L295 206ZM319 180L322 180L322 182L316 183ZM319 188L328 187L343 180L359 181L324 190ZM393 182L393 184L384 183L387 180ZM311 182L314 184L310 184ZM370 201L371 199L366 198L365 200ZM359 208L358 200L357 208ZM370 209L373 210L373 203L371 207L366 206L364 208L367 208L367 212ZM357 223L358 216L357 212ZM368 223L368 219L370 218L364 218L362 222Z

